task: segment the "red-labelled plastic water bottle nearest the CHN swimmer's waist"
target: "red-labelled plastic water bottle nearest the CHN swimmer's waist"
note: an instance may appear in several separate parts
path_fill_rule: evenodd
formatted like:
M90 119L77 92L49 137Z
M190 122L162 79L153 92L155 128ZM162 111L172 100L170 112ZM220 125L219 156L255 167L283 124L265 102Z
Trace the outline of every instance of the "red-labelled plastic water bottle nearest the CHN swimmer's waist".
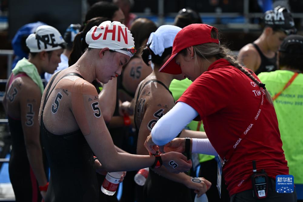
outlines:
M123 172L108 172L101 186L101 191L109 196L116 193Z

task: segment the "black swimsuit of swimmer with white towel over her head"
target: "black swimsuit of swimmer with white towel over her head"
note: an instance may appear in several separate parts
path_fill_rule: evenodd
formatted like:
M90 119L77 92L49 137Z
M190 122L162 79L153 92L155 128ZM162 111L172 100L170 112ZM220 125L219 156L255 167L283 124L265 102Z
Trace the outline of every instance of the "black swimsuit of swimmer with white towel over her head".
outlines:
M134 121L136 126L136 131L138 133L139 127L136 124L136 112L138 110L138 99L141 94L142 89L151 82L156 82L164 86L165 89L168 90L168 92L171 94L171 91L165 86L164 83L158 81L158 80L149 80L144 85L141 84L138 95L136 98L136 107L135 107L135 113L134 113ZM178 134L178 136L180 133ZM177 137L178 137L177 136ZM184 201L192 201L191 200L191 190L187 188L184 184L171 181L167 178L164 178L157 173L153 172L151 169L149 169L149 174L146 179L145 185L144 185L144 201L145 202L184 202Z

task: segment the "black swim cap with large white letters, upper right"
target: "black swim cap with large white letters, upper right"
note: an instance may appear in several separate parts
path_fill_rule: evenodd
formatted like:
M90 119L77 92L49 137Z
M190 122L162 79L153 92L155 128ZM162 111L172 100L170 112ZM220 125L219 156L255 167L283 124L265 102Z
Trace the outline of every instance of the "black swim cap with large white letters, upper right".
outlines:
M271 27L274 30L281 30L287 35L297 32L291 12L285 7L277 6L273 10L266 11L264 14L264 23L265 26Z

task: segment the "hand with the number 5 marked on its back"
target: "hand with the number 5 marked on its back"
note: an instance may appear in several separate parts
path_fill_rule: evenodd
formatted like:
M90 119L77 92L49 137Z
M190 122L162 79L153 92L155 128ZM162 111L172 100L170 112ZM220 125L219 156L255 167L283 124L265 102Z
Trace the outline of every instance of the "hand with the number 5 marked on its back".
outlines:
M178 152L167 152L160 154L162 159L162 165L172 173L186 172L191 166L191 159L187 160L186 156Z

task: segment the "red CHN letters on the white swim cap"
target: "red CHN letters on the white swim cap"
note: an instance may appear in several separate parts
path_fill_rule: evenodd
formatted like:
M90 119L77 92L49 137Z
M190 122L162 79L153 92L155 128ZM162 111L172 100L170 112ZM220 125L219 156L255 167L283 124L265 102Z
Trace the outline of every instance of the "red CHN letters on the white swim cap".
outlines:
M104 30L103 26L95 27L95 29L92 33L92 39L93 40L98 40L102 36L102 33L100 33L98 36L95 36L95 32L98 28L101 29L101 30ZM124 39L124 42L126 44L128 44L126 27L124 28L124 33L123 33L122 27L120 25L116 26L115 24L113 25L113 29L108 29L108 25L106 25L104 35L103 35L103 40L106 40L106 37L107 37L108 33L112 33L112 41L115 41L116 29L117 28L118 28L118 41L121 40L121 36L122 36L123 39Z

